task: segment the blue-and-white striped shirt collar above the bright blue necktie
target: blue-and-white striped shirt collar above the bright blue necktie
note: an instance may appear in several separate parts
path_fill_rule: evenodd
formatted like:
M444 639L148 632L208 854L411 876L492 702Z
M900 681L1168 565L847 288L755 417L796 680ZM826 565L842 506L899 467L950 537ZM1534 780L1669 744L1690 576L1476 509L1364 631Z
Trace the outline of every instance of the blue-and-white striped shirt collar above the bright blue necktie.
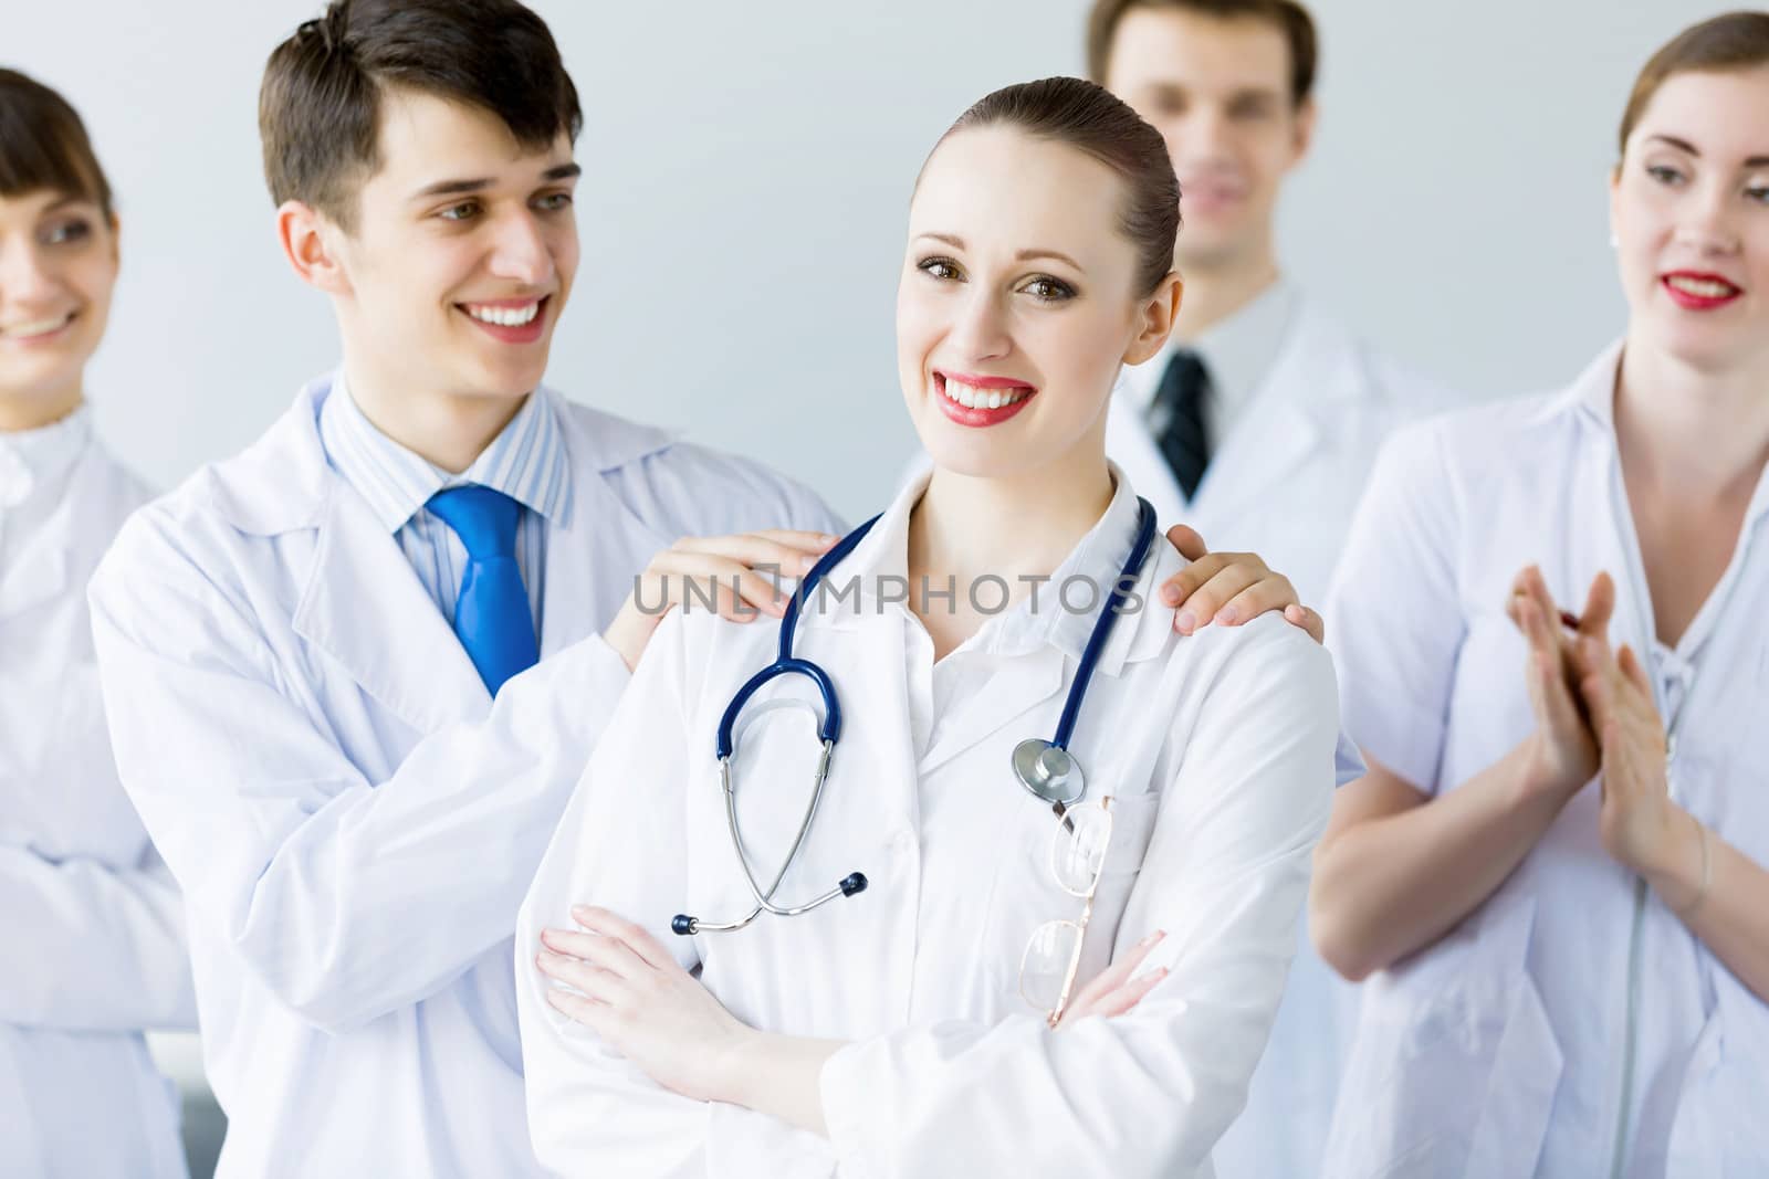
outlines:
M548 521L568 525L571 465L566 460L559 407L550 389L536 389L517 415L451 475L380 431L350 396L340 369L320 405L325 460L368 502L387 532L398 532L442 488L478 483L502 491Z

